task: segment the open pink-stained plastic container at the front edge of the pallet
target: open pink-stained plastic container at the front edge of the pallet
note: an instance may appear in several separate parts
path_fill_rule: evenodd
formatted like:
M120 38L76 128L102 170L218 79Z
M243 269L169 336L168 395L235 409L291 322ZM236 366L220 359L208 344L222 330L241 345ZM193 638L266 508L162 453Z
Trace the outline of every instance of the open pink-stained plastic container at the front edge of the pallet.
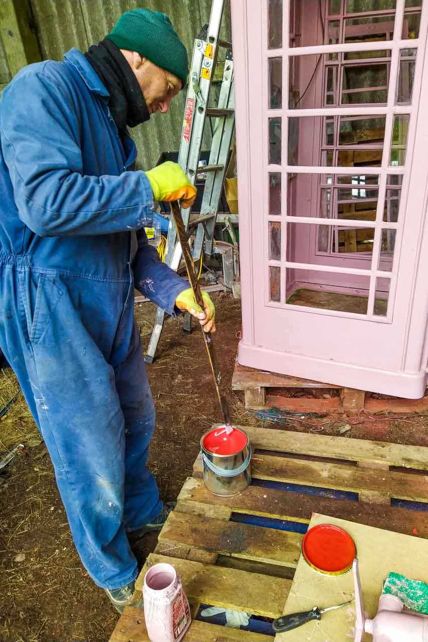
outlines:
M151 642L180 642L192 621L181 580L171 564L155 564L144 578L144 617Z

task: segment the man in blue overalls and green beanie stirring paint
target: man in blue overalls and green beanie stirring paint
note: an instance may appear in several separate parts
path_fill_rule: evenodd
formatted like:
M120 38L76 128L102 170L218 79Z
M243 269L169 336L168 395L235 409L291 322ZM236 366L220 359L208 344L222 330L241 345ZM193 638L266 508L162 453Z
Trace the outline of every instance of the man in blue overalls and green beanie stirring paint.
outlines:
M0 103L0 348L48 447L73 539L121 611L129 541L170 507L147 469L155 411L134 322L134 286L214 331L188 284L147 243L154 200L196 190L173 163L134 171L127 127L166 114L188 74L168 17L125 13L98 46L30 65Z

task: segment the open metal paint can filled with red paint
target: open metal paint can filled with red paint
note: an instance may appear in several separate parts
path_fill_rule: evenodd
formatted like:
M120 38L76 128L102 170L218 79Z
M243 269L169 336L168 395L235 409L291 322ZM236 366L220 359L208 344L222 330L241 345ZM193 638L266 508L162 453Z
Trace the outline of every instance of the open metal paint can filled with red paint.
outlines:
M231 497L251 483L251 444L247 433L224 426L209 430L201 438L204 483L213 495Z

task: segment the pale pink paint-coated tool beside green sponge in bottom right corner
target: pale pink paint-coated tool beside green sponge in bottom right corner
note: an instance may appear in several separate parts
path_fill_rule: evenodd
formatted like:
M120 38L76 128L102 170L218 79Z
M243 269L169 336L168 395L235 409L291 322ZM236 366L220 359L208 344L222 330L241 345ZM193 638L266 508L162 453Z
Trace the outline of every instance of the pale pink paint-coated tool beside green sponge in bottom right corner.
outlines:
M403 603L394 595L381 595L377 614L368 620L364 614L358 560L353 560L355 591L354 642L362 642L364 633L373 636L373 642L428 642L428 616L413 611L403 611Z

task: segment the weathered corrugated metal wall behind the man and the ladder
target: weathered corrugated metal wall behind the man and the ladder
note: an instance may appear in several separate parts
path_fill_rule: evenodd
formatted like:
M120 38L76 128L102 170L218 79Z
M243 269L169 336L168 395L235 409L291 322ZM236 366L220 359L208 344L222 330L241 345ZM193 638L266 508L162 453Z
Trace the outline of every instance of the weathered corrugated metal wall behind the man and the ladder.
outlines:
M43 58L60 60L72 47L85 51L89 44L99 42L111 31L123 12L141 4L141 0L31 0ZM145 0L143 4L170 17L191 60L193 41L202 24L210 19L211 0ZM226 1L222 37L231 38L229 0ZM132 130L141 169L153 167L161 152L178 151L185 94L185 91L180 92L168 114L155 114L148 123ZM208 149L209 146L208 131L204 147Z

